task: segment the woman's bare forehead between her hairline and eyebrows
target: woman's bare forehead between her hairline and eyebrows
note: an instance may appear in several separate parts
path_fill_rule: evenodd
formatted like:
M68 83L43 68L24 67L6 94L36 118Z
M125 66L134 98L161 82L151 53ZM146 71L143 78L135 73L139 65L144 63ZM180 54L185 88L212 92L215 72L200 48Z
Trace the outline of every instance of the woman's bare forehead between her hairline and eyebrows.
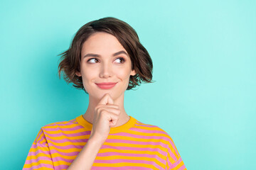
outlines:
M90 35L87 40L82 45L82 54L87 52L102 52L102 53L113 53L120 50L124 50L124 47L121 43L117 40L114 35L109 33L94 33Z

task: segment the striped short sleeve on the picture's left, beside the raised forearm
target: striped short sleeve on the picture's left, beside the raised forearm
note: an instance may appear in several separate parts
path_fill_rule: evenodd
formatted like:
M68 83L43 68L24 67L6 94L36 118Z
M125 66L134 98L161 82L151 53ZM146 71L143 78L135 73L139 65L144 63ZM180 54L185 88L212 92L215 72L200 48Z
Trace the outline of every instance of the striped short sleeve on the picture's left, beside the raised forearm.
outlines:
M41 128L26 157L23 170L54 169L46 136Z

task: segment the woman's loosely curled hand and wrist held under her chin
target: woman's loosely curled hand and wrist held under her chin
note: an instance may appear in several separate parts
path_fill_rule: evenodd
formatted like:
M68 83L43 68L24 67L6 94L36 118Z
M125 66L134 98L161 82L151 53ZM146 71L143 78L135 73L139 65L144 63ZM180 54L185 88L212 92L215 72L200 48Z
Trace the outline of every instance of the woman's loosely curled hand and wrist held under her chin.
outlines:
M119 106L114 105L110 94L105 94L95 107L92 131L89 139L93 138L103 144L110 133L110 127L117 124L120 113Z

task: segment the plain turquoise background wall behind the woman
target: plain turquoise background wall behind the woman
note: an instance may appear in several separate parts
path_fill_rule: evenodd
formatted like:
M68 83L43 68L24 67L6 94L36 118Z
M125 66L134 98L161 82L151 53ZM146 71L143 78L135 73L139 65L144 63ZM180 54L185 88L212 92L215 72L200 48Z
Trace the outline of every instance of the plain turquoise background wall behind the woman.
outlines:
M85 113L57 56L85 23L131 25L153 84L126 91L129 115L166 130L187 169L253 169L256 1L0 1L1 169L22 169L38 131Z

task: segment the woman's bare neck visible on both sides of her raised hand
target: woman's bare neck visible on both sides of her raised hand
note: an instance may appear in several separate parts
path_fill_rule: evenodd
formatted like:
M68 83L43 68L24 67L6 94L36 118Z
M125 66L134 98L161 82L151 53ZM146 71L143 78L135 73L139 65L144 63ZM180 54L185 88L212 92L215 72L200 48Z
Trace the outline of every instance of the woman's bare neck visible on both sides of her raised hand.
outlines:
M129 115L127 115L127 113L124 110L124 94L122 94L118 98L113 98L113 100L114 100L114 104L119 106L119 109L121 112L119 115L119 120L117 121L117 124L114 125L114 127L117 127L117 126L123 125L124 123L127 123L129 120ZM97 106L99 101L100 100L98 98L94 98L89 95L89 106L87 108L87 111L83 115L83 118L85 118L85 120L87 120L87 122L91 124L93 124L95 107Z

